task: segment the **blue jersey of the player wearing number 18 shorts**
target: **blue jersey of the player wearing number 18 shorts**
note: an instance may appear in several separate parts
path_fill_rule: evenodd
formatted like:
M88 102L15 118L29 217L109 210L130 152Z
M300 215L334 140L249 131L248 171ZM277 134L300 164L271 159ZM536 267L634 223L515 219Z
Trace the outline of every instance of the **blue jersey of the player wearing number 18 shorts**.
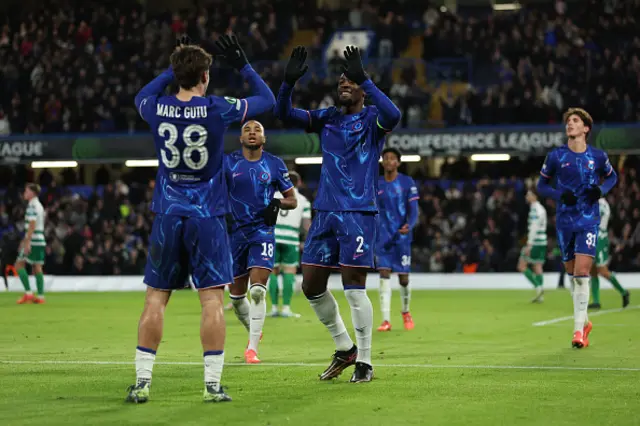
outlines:
M265 228L261 213L275 192L293 188L284 161L268 152L263 152L258 161L249 161L241 151L235 151L225 156L224 169L229 210L233 214L232 233L240 228L250 231Z

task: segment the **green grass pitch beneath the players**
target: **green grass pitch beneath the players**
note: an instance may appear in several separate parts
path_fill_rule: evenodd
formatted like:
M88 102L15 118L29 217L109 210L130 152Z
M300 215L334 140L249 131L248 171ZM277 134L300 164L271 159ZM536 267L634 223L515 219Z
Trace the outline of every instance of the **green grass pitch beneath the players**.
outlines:
M335 294L351 329L348 305ZM199 303L180 292L167 309L151 400L140 406L123 402L133 365L82 361L133 361L142 293L52 293L43 306L16 306L17 296L0 294L6 425L640 424L640 310L593 317L591 346L573 350L572 321L532 326L571 315L565 291L548 292L543 305L529 304L532 294L524 291L415 291L411 332L402 329L394 293L394 329L374 332L376 380L367 384L348 383L351 370L333 382L317 379L333 344L302 297L294 300L302 318L267 319L260 357L312 365L236 364L247 335L227 313L223 384L234 402L212 405L201 402ZM378 294L370 296L377 325ZM612 291L602 299L605 308L620 306Z

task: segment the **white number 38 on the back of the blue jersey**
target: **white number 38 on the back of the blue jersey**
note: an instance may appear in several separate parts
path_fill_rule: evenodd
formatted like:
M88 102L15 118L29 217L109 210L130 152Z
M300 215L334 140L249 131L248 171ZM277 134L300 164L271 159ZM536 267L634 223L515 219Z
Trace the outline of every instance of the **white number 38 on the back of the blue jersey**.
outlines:
M180 150L176 147L175 143L178 140L178 129L171 123L160 123L158 126L158 134L162 137L169 137L164 141L164 147L160 152L162 157L162 163L168 169L175 169L180 164ZM192 136L195 136L192 137ZM204 144L207 142L207 129L199 124L192 124L185 127L182 132L182 140L186 145L185 150L182 152L182 159L184 164L191 170L201 170L207 165L209 161L209 152ZM167 156L167 151L171 154L171 158ZM200 154L198 161L193 160L193 152Z

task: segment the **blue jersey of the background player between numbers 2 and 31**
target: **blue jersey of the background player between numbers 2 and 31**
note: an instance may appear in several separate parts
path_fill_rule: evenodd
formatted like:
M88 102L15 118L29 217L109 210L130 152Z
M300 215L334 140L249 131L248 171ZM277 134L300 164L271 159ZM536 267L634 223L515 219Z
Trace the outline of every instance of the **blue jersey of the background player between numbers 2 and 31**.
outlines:
M409 223L409 208L412 202L418 201L416 183L407 175L398 173L392 182L384 177L378 181L378 241L387 243L392 239L398 242L411 242L411 232L405 235L398 233L405 223Z

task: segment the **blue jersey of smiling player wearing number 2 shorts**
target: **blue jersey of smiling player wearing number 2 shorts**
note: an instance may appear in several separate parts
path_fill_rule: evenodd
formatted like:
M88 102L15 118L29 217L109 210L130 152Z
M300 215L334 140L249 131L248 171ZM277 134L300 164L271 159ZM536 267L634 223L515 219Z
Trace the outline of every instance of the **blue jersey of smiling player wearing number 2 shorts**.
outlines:
M378 125L378 109L367 106L343 115L336 107L307 111L309 130L320 135L322 170L314 209L378 211L380 154L386 131Z

